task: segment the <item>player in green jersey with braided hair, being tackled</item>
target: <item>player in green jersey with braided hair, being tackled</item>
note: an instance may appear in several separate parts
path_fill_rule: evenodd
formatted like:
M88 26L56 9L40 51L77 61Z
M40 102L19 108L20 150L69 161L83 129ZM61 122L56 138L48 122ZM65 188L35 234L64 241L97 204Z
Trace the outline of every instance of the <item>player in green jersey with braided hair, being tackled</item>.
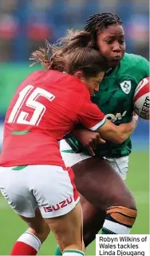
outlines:
M136 86L149 76L148 60L125 53L124 29L116 14L94 14L86 22L85 30L92 34L93 45L110 65L92 101L114 124L126 123L132 119ZM98 144L99 135L82 128L73 135L71 139L61 140L60 148L65 165L73 168L78 191L86 198L81 197L85 246L101 228L102 234L128 234L136 219L134 198L124 184L131 139L123 144L108 141ZM56 255L61 255L59 249Z

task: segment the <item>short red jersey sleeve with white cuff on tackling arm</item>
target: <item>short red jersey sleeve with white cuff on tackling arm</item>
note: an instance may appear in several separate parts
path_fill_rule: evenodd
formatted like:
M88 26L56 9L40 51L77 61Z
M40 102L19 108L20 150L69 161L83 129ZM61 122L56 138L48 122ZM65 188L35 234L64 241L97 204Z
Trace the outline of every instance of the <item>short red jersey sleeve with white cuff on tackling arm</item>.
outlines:
M105 114L91 100L85 100L77 120L91 131L97 131L106 121Z

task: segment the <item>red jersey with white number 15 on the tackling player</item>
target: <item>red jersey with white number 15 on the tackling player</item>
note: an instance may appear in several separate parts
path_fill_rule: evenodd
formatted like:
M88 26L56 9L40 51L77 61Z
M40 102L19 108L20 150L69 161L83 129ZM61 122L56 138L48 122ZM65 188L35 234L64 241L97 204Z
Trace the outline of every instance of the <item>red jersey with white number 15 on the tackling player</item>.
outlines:
M105 124L85 84L58 71L35 71L20 84L6 112L0 166L64 167L57 141L77 123L93 131Z

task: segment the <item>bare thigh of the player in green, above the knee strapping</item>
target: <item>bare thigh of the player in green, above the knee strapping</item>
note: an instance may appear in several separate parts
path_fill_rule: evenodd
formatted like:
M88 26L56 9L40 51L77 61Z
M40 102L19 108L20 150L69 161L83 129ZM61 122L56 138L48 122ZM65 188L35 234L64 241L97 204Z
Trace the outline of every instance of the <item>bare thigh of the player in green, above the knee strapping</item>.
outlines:
M101 210L112 205L134 205L132 193L109 161L92 157L73 165L77 190Z

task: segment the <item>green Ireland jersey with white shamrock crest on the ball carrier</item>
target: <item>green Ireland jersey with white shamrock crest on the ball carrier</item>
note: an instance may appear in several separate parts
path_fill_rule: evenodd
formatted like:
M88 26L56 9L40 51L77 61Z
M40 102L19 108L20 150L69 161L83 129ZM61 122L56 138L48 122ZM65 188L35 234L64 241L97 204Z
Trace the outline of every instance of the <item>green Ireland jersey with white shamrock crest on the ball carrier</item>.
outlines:
M105 76L100 89L92 96L94 104L105 113L113 124L123 124L132 120L133 95L141 79L149 76L149 62L140 55L125 54L116 69ZM84 148L74 137L67 140L76 152L85 152ZM131 139L123 144L107 141L100 144L96 156L121 157L128 156L132 151Z

